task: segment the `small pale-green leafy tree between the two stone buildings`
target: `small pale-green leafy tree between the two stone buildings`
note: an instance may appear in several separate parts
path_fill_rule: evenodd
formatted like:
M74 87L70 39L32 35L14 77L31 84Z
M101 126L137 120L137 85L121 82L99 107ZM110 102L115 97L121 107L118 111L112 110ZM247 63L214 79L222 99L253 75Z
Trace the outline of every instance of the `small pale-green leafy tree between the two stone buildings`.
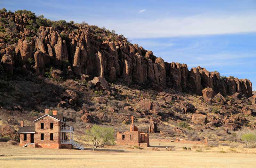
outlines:
M94 124L91 129L86 130L86 136L92 140L93 150L105 144L114 143L114 129L101 127Z

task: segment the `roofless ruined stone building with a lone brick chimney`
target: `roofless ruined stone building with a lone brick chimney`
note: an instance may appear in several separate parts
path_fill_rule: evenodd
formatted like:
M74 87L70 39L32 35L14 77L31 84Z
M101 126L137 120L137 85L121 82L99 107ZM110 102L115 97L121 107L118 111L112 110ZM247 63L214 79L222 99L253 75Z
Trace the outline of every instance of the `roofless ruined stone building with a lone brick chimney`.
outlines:
M135 125L133 125L132 116L130 131L117 132L116 143L123 145L138 145L141 147L149 147L149 134L139 132L139 129Z

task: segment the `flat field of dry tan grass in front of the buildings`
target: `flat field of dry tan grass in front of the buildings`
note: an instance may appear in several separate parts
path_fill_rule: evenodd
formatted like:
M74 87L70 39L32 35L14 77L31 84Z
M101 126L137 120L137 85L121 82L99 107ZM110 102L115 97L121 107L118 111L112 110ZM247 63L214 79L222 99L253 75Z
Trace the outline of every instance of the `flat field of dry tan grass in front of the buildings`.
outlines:
M159 142L150 142L150 145L157 147ZM165 149L167 146L172 147L175 151L167 151ZM46 149L12 146L0 143L0 167L247 168L255 167L256 165L256 155L254 154L198 152L193 148L191 151L184 151L182 150L182 146L192 147L193 145L161 142L159 151L153 151L152 147L140 150L119 145L92 151L90 148L85 148L85 150Z

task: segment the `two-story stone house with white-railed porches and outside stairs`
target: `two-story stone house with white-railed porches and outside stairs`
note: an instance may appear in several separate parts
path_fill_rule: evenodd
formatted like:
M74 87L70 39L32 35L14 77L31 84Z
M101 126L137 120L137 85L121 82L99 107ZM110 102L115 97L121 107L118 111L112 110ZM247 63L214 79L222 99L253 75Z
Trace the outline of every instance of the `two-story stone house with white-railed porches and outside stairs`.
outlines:
M63 115L57 115L54 110L49 115L49 109L44 110L44 115L38 117L35 126L25 126L20 122L20 146L39 147L39 148L68 148L75 146L81 150L83 145L73 140L73 127L67 127Z

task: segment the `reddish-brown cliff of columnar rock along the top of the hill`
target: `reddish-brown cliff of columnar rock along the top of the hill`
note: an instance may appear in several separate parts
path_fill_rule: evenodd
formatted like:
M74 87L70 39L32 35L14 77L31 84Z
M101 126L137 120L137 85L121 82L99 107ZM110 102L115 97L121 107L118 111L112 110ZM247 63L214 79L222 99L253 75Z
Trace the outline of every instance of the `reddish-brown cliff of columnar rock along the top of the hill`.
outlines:
M175 88L202 95L204 88L212 88L214 95L238 92L252 96L252 83L247 79L220 78L218 72L202 67L188 70L186 64L164 62L152 51L104 28L52 22L26 10L1 10L0 18L0 75L31 71L42 76L50 67L67 71L68 63L78 78L85 74L158 90Z

